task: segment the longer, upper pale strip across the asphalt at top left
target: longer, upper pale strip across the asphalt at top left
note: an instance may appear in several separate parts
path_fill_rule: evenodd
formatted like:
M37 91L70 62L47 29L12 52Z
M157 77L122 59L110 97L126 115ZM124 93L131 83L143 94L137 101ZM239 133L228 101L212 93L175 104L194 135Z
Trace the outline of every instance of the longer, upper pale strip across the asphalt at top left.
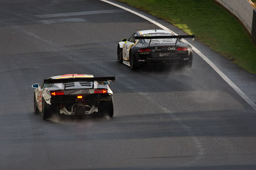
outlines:
M81 11L81 12L70 12L70 13L52 13L46 15L35 15L39 18L51 18L51 17L70 17L70 16L80 16L80 15L93 15L102 13L122 13L124 10L99 10L99 11Z

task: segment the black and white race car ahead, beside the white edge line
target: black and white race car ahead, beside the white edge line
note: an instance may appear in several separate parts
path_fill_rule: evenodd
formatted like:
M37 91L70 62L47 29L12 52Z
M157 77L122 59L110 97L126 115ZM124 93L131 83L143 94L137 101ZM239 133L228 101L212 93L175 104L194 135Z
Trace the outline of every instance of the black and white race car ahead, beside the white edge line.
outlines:
M122 39L117 46L117 59L131 69L143 64L180 64L192 66L193 51L190 45L180 41L192 36L175 36L168 30L137 31L129 39Z

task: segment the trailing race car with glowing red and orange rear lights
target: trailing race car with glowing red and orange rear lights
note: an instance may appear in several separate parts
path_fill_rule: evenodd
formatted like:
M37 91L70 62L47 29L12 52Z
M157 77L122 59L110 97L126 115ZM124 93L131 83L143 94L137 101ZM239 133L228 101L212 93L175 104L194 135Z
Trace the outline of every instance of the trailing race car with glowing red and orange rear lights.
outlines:
M113 117L113 92L109 81L115 77L93 77L92 74L51 76L40 86L32 85L34 111L44 119L56 115L87 115L99 113Z

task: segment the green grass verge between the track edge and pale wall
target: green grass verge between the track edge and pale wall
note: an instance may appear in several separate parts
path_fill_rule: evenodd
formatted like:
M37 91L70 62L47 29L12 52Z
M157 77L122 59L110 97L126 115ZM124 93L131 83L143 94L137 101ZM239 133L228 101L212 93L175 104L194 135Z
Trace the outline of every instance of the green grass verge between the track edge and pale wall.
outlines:
M214 0L118 0L172 23L256 74L256 45L236 17Z

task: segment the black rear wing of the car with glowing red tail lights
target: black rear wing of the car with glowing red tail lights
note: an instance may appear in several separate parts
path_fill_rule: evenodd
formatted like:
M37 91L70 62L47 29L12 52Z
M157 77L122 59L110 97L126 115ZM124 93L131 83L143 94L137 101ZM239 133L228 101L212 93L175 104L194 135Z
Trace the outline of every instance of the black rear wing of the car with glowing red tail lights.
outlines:
M60 79L45 79L44 83L52 84L52 83L68 83L74 81L113 81L115 82L115 76L109 77L92 77L92 78L60 78Z

